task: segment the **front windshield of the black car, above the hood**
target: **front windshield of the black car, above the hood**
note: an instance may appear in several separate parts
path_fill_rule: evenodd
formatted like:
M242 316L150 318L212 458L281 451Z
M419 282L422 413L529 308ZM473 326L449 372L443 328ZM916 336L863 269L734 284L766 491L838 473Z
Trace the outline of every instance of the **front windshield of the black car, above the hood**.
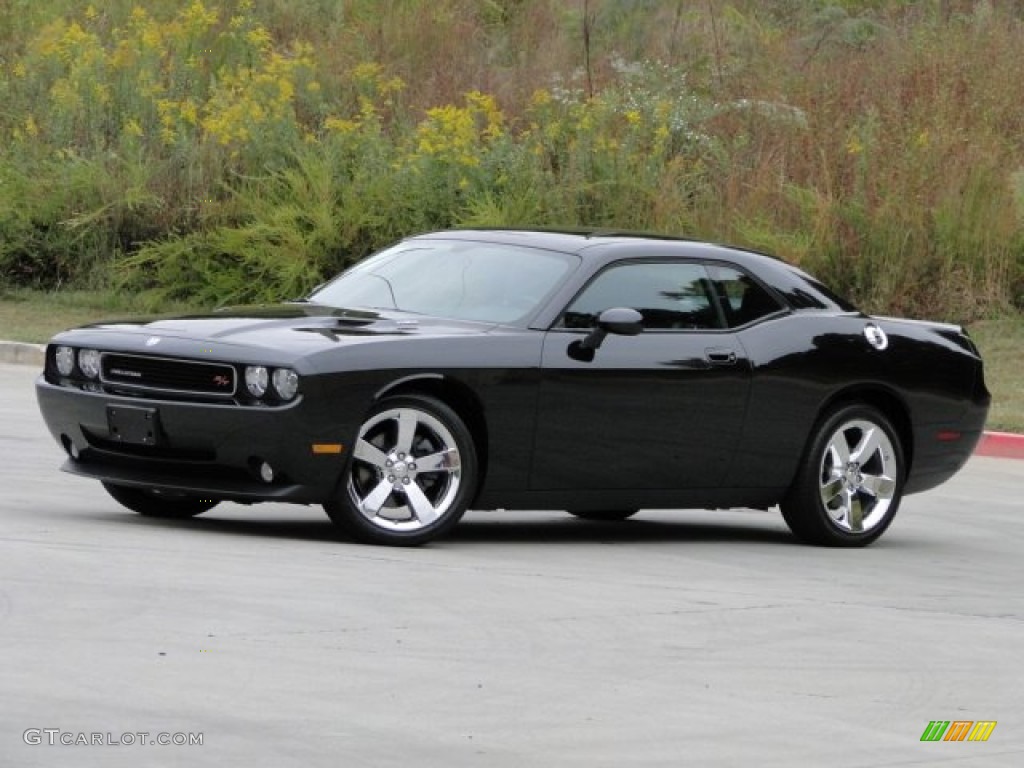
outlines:
M455 319L516 323L579 264L575 256L499 243L421 240L361 261L309 299Z

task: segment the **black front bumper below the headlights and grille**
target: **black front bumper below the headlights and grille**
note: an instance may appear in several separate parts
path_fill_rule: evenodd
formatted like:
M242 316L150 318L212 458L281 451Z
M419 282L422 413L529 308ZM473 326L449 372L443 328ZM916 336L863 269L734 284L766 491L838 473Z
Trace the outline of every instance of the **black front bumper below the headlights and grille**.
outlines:
M212 496L240 502L319 504L341 476L350 429L344 419L312 408L309 393L288 406L239 404L126 397L36 380L43 419L69 459L61 469L121 485ZM156 445L118 442L108 407L144 407L159 414ZM340 443L342 453L314 453ZM259 467L269 464L273 480Z

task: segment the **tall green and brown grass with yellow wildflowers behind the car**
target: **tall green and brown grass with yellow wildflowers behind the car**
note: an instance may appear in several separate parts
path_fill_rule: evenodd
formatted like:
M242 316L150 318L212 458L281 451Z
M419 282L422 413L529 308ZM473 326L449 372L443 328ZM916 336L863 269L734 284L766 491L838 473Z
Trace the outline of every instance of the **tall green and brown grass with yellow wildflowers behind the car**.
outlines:
M11 0L0 282L273 300L411 231L766 249L1024 307L1024 19L934 0Z

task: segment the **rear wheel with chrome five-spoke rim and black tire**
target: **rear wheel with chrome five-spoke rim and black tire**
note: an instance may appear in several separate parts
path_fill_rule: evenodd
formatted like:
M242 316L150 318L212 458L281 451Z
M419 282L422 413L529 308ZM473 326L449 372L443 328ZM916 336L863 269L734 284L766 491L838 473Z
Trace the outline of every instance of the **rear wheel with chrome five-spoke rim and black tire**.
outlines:
M870 406L844 406L815 426L782 517L808 544L864 547L892 523L905 476L889 419Z

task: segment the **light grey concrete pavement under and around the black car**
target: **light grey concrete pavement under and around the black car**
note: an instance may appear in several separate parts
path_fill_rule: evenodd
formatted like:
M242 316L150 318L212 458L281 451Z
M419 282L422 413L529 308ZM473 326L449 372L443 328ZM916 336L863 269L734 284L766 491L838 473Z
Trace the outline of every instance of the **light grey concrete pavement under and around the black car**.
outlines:
M470 513L389 550L315 508L122 510L56 471L35 374L0 366L2 766L1024 760L1022 462L972 460L862 551L752 511Z

